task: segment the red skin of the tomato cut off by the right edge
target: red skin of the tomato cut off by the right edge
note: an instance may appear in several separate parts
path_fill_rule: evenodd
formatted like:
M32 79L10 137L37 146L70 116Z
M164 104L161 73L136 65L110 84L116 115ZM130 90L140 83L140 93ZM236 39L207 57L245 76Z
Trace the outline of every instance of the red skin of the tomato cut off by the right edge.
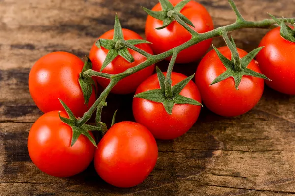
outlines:
M269 31L261 40L264 46L256 60L261 72L271 81L266 84L281 93L295 95L295 43L280 35L280 27Z

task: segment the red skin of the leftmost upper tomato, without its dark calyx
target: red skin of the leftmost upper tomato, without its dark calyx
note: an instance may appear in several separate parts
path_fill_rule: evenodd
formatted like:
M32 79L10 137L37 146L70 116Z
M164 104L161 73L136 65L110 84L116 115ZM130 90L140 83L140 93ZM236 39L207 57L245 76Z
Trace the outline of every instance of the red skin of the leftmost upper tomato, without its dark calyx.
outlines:
M29 73L29 92L38 108L46 113L64 110L60 98L72 110L75 116L83 114L95 102L95 91L84 104L84 97L79 85L79 73L83 61L68 52L52 52L41 57Z

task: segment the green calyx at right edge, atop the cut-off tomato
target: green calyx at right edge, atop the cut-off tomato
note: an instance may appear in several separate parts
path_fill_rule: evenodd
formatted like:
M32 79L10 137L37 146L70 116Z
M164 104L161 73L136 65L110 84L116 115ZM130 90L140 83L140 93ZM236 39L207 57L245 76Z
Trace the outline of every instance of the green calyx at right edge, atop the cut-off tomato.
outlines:
M269 13L268 13L269 14ZM290 42L295 43L295 28L292 29L288 25L286 25L284 17L278 19L273 15L269 14L269 16L278 24L280 25L280 34L281 36ZM291 25L295 27L295 19L290 21Z

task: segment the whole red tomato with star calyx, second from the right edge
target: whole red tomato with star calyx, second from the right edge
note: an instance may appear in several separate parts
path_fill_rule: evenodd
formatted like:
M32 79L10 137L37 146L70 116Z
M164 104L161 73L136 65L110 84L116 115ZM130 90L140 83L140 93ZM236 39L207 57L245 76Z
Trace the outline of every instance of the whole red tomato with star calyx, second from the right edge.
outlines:
M227 47L208 52L196 71L195 81L203 103L221 116L238 116L251 110L260 100L264 80L258 63L253 60L262 49L250 53L236 48L234 40L223 35Z

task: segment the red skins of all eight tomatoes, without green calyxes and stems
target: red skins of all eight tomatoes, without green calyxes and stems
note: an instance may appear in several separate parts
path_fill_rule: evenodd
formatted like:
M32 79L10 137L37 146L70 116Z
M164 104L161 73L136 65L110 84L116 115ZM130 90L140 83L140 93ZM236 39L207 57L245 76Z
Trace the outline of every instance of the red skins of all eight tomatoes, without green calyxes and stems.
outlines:
M181 0L170 0L176 6ZM157 4L152 11L161 11ZM212 18L207 10L195 1L188 2L180 11L199 33L213 30ZM191 34L185 28L172 21L167 27L163 21L148 16L145 34L152 44L141 43L135 46L149 54L159 54L182 45L191 39ZM122 29L124 39L143 39L136 32ZM99 39L113 39L114 30L110 30ZM177 55L177 63L189 63L200 59L209 49L212 40L202 41L184 49ZM271 88L285 93L295 94L295 43L280 36L280 27L272 29L261 40L264 46L256 60L251 60L248 69L263 73L271 81L266 84ZM228 47L218 48L221 54L231 59ZM108 74L122 73L146 60L138 52L128 49L133 62L128 62L122 56L117 56L101 72ZM92 46L89 59L92 69L100 71L109 50ZM237 49L240 58L247 55L242 49ZM170 60L170 59L166 59ZM90 140L80 134L77 141L71 145L74 130L61 121L68 118L61 99L77 117L83 114L96 100L96 86L89 97L88 103L79 85L79 77L84 63L77 56L67 52L53 52L40 58L29 74L29 91L42 115L31 127L28 137L29 156L33 163L43 172L56 177L69 177L84 171L94 158L94 166L98 175L106 182L118 187L132 187L144 181L153 170L158 148L156 139L175 139L186 133L197 121L201 107L191 104L175 104L172 114L168 114L162 103L143 98L133 99L133 114L135 122L119 122L114 124L95 147ZM184 66L185 65L181 65ZM139 94L149 90L159 89L154 65L119 81L112 89L114 94ZM235 88L234 78L229 77L221 82L210 85L212 81L226 71L215 50L209 51L197 67L195 83L189 81L181 90L180 95L194 99L207 106L212 112L221 116L236 116L251 110L260 100L264 80L253 76L243 76ZM166 75L167 73L164 73ZM172 86L187 77L172 72ZM93 77L106 88L110 80ZM91 131L90 136L94 139Z

